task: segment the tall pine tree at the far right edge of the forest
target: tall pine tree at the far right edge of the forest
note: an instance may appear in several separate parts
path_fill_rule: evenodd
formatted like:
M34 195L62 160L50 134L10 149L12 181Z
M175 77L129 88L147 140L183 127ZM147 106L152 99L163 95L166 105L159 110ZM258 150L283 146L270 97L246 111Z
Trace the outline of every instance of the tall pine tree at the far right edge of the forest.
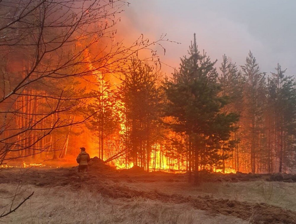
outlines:
M279 172L295 166L296 83L292 76L285 76L278 64L276 73L269 79L269 97L273 107L275 125L275 151Z

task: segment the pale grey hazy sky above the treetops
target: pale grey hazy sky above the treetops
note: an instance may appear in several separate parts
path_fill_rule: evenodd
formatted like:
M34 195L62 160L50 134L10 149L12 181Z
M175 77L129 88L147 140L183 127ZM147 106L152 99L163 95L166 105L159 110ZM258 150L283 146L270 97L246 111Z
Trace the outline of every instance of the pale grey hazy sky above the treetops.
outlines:
M223 54L237 65L245 62L249 50L262 72L274 72L277 63L296 74L295 0L129 0L121 22L122 35L157 39L166 33L166 55L161 61L179 67L187 54L193 33L199 50L221 64ZM166 73L173 69L165 67Z

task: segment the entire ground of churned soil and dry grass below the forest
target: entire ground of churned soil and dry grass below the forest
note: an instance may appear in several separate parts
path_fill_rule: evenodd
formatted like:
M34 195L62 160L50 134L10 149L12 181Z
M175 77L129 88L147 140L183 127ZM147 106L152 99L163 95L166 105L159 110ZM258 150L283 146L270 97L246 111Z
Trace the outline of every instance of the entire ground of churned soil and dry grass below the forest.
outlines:
M293 181L271 182L270 175L251 174L202 174L200 179L199 186L192 186L186 174L146 174L137 168L118 172L100 161L91 163L84 183L78 181L76 168L14 168L0 172L0 197L11 195L20 180L23 187L39 192L7 218L10 223L18 223L24 214L23 223L54 223L51 217L57 211L64 211L59 223L296 223ZM71 221L67 206L60 207L57 199L65 192ZM46 203L42 197L48 198ZM43 213L30 215L25 212L29 207L40 207ZM86 215L84 221L79 212Z

